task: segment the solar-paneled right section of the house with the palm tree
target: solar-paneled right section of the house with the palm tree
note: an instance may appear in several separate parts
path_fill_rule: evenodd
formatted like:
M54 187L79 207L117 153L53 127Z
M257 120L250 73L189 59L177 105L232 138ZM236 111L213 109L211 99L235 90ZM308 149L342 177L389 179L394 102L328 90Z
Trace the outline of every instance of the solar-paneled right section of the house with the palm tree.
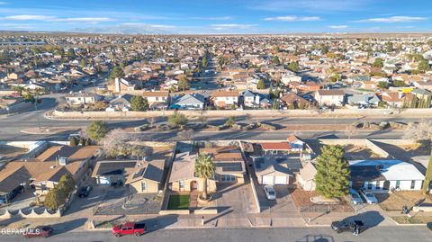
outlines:
M246 167L239 148L200 148L200 153L211 154L213 157L213 162L216 166L216 182L245 183Z

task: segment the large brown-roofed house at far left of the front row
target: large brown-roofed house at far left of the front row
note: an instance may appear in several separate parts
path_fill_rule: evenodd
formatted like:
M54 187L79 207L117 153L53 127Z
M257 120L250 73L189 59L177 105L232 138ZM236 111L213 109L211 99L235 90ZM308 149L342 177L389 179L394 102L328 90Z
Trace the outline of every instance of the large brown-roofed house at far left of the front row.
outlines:
M85 180L89 163L96 159L97 150L98 146L52 146L37 157L11 161L0 170L0 195L8 197L17 189L31 189L43 195L63 175L72 175L79 186Z

